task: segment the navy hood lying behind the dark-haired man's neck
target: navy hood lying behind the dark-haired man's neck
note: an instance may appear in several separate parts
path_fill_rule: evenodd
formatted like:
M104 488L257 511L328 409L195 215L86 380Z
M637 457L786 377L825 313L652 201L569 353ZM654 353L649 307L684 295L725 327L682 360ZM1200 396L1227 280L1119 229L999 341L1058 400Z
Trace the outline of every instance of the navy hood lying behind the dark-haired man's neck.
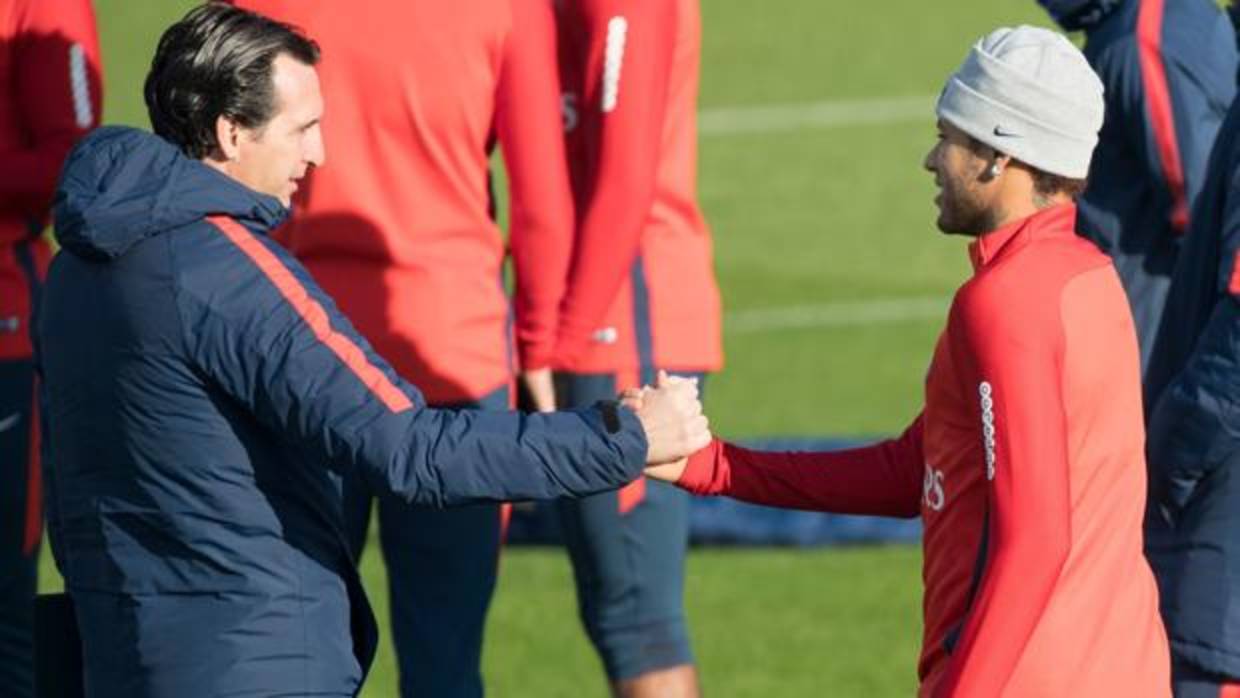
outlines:
M262 233L288 210L162 138L126 126L97 129L73 148L52 202L61 247L97 260L213 214Z

